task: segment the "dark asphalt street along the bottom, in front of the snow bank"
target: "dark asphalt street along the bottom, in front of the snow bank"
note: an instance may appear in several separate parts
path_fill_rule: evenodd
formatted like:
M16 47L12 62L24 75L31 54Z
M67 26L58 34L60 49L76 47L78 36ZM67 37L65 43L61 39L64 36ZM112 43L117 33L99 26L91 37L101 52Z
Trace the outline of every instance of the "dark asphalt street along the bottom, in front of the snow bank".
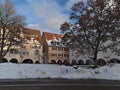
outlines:
M0 90L119 90L120 81L23 79L0 80Z

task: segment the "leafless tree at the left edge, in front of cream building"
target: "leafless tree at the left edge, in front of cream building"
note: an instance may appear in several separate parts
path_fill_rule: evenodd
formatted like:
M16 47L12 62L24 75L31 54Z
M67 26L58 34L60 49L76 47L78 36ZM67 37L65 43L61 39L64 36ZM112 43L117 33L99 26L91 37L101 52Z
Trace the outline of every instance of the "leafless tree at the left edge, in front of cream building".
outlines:
M9 49L21 43L23 17L17 15L9 0L0 3L0 62Z

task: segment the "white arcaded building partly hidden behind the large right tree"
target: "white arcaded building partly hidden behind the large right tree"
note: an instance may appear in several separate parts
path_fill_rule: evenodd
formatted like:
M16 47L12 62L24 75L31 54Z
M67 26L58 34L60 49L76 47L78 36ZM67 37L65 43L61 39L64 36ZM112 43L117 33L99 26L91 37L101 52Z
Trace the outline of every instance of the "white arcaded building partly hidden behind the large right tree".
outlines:
M98 52L98 57L97 60L101 62L104 61L106 64L109 62L120 62L120 40L117 40L118 43L113 42L113 41L107 41L105 43L105 45L109 45L111 47L109 47L106 50L103 51L99 51ZM113 48L112 47L112 43L115 44L116 43L116 47ZM92 61L92 58L90 56L88 56L87 54L80 54L79 51L77 51L77 49L70 49L69 51L69 58L70 58L70 62L76 61L79 64L90 64L89 61ZM81 63L81 61L83 61Z

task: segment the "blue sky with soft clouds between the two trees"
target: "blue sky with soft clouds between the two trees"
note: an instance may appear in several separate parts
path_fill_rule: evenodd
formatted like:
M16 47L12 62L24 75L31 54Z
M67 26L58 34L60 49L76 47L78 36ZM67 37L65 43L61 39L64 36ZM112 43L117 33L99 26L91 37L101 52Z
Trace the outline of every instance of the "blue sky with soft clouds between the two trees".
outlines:
M10 0L26 26L42 32L60 33L60 25L69 19L71 6L80 0Z

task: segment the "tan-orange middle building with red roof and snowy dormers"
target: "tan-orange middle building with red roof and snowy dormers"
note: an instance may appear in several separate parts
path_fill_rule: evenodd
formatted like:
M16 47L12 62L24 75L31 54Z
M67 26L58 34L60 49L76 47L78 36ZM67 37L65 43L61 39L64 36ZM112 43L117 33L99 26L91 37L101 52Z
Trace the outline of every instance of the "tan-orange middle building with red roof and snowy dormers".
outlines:
M63 63L69 60L69 47L62 42L62 34L43 32L43 53L46 63Z

